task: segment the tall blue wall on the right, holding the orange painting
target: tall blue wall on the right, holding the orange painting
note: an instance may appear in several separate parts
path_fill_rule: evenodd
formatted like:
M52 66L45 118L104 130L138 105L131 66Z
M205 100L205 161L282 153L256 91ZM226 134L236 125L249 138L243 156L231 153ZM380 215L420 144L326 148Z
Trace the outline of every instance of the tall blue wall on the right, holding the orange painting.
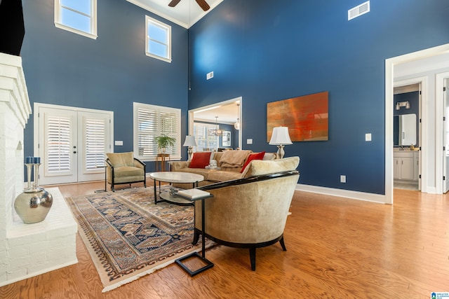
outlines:
M449 43L449 1L370 1L348 21L362 2L223 1L190 29L189 109L241 96L243 148L276 151L267 103L328 91L329 140L285 148L299 183L384 194L385 60Z

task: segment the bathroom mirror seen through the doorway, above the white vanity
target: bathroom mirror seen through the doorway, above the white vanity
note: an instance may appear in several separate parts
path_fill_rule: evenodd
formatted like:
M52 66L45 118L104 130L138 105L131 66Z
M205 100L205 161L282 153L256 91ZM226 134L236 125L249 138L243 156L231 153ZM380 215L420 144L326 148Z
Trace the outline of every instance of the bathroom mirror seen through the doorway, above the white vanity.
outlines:
M416 144L416 114L394 116L394 146L415 146Z

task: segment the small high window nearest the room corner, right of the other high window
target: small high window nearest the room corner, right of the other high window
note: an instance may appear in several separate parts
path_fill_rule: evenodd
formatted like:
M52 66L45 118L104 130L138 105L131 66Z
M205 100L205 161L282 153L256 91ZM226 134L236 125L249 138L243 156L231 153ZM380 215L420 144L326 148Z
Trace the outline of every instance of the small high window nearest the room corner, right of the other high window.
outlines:
M146 39L145 53L147 56L171 62L171 26L145 17Z

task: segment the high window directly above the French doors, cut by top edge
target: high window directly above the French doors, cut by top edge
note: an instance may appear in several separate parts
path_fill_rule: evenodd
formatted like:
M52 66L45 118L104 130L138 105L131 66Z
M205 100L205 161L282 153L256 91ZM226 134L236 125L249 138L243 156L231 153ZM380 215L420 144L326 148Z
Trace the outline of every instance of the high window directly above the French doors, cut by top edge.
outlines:
M97 39L97 0L55 0L55 26Z

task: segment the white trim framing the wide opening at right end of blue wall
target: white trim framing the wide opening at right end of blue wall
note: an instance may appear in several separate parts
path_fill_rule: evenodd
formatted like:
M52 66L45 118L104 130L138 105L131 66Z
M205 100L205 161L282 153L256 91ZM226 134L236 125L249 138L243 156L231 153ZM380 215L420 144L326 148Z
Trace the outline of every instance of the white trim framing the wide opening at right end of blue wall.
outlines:
M414 53L392 57L385 60L385 197L386 204L393 204L393 88L394 88L394 66L404 62L420 60L449 53L449 44L420 50ZM424 104L422 105L424 108ZM424 112L424 111L423 111ZM426 130L422 127L422 131ZM424 140L423 143L424 144ZM424 187L424 181L422 181Z

